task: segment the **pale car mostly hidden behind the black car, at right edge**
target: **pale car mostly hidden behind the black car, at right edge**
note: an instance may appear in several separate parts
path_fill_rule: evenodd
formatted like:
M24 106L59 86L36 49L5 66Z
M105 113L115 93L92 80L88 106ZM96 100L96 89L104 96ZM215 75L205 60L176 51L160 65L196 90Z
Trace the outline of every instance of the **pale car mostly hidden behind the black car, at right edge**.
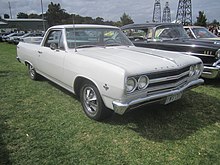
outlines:
M202 26L184 26L186 33L192 39L207 39L216 41L217 44L220 44L220 37L216 36L208 29Z

